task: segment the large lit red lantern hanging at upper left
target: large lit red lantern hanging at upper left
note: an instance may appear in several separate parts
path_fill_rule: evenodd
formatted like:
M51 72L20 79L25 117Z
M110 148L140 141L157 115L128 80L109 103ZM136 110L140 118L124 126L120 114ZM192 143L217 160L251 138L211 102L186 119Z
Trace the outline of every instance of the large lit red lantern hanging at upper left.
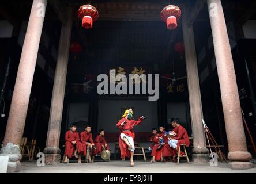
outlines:
M78 17L82 20L82 27L89 29L92 28L92 22L99 17L99 12L92 5L83 5L78 10Z

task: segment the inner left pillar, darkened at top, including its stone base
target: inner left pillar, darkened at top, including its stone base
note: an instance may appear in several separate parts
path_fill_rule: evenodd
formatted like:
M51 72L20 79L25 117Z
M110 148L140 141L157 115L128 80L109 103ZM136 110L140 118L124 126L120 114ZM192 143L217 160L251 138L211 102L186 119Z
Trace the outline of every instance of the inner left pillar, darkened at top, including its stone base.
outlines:
M62 25L61 36L59 39L59 51L54 77L54 87L52 91L46 148L44 148L44 154L46 154L46 164L57 164L61 158L59 137L61 133L67 64L69 62L69 45L73 23L71 7L67 7L66 13L67 23L66 25Z

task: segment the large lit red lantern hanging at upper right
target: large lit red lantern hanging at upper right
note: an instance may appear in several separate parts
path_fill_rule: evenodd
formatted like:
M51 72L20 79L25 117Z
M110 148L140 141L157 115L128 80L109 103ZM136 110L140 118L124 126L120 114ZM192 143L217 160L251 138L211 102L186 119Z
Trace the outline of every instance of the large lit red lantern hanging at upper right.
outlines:
M166 22L167 29L177 28L177 20L181 17L181 10L178 6L169 5L161 11L161 19Z

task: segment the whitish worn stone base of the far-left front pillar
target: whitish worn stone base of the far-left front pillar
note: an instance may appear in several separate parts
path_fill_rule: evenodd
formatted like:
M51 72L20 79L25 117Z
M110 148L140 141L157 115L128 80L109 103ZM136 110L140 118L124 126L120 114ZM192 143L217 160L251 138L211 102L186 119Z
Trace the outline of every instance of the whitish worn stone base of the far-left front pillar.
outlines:
M15 145L13 143L7 143L5 147L1 148L0 156L8 156L8 168L7 172L17 172L20 170L20 160L22 158L20 154L20 148L18 145Z

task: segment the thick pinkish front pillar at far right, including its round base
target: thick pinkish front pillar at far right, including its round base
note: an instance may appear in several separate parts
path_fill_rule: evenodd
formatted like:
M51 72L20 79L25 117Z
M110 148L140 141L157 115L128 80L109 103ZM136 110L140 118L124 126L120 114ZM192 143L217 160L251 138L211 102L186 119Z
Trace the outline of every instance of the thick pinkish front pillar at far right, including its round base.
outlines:
M220 0L208 0L207 3L228 139L228 159L231 160L229 166L233 169L253 168L253 163L249 162L252 158L251 154L247 152L238 86L223 8Z

